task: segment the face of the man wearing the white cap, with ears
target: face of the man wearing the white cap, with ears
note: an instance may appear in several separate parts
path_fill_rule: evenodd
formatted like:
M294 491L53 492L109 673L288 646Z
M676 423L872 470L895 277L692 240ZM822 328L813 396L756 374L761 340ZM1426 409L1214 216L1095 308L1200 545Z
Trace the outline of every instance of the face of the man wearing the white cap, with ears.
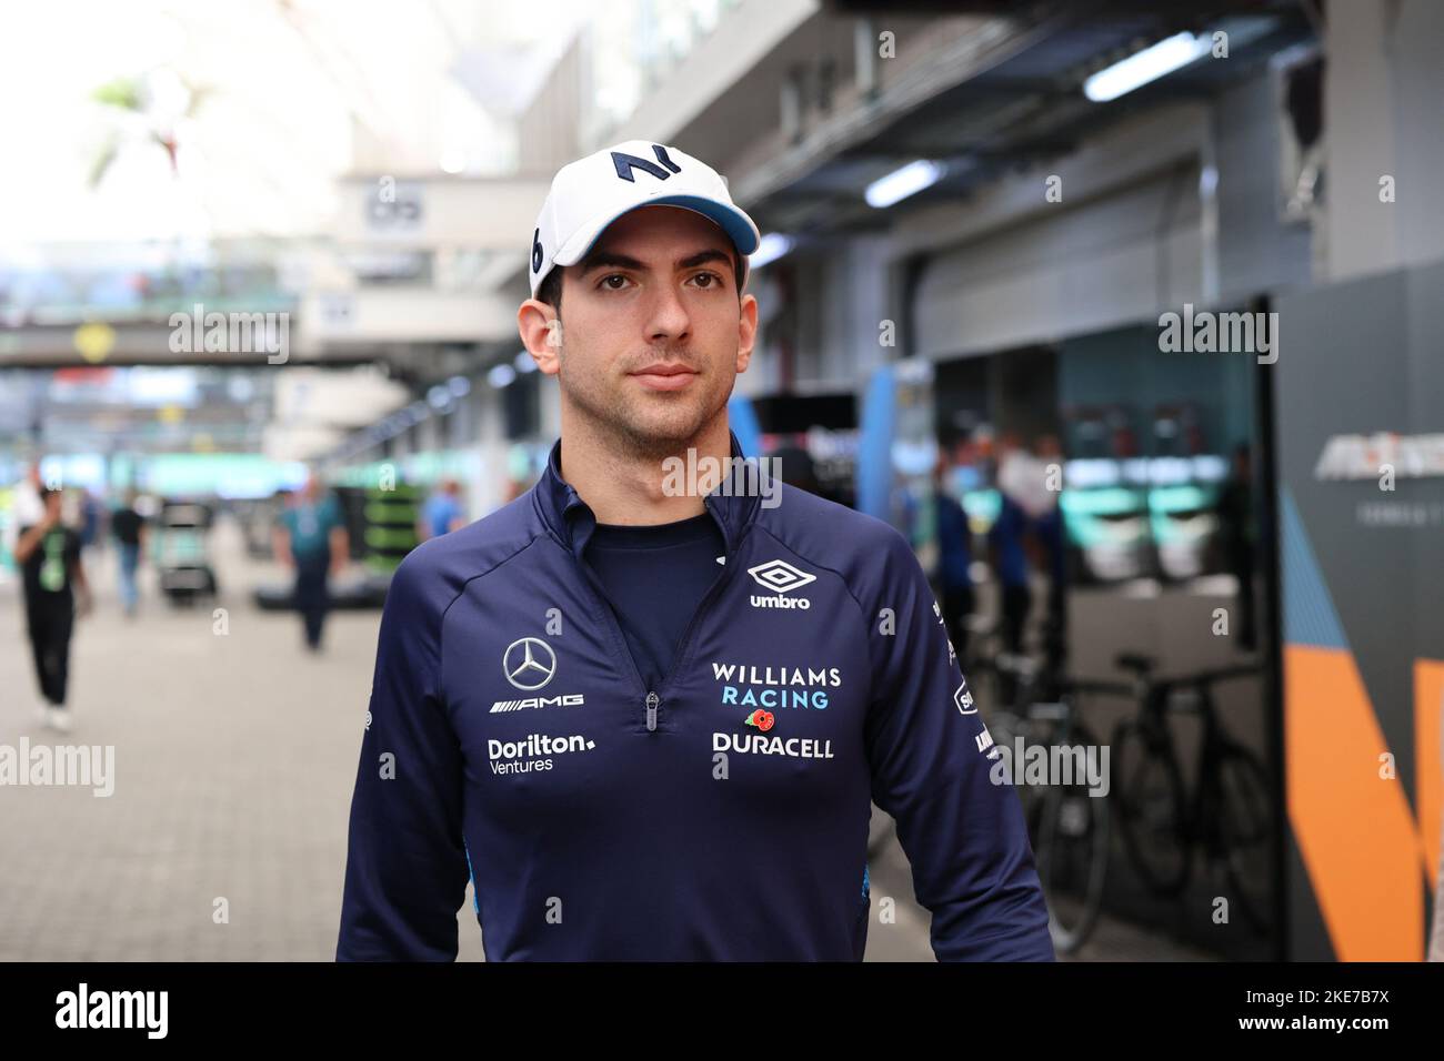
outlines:
M539 354L537 302L523 338L573 411L637 452L671 452L721 414L751 358L757 299L738 300L735 256L700 214L634 209L565 267L560 344L542 336Z

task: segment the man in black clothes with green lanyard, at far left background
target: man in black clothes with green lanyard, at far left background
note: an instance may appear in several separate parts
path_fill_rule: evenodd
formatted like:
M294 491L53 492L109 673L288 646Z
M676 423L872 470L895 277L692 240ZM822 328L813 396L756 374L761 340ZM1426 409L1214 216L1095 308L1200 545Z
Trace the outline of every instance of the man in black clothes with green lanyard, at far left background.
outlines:
M91 609L90 585L81 564L81 536L61 521L59 489L42 486L38 523L20 528L14 559L25 576L25 619L40 683L46 725L69 732L65 707L69 677L71 632L75 628L75 598L79 614Z

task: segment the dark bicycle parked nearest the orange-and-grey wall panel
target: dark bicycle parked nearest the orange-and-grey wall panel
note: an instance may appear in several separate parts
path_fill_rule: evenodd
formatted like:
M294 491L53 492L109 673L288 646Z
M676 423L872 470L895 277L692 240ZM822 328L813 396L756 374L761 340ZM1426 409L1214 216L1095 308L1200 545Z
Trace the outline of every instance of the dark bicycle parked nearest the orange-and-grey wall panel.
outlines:
M1160 896L1178 895L1193 873L1196 853L1222 863L1245 921L1268 931L1272 797L1264 764L1219 720L1213 686L1261 673L1258 663L1171 678L1154 674L1152 657L1116 660L1134 674L1138 713L1113 732L1119 830L1144 885ZM1203 719L1197 785L1184 791L1168 715L1194 710Z

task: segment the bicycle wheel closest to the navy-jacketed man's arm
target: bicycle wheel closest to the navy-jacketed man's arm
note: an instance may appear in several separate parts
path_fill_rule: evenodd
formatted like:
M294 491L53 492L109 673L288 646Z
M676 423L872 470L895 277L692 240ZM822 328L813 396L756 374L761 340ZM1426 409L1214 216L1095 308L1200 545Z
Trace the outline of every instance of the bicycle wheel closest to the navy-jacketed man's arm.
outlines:
M1079 728L1069 743L1096 746ZM1108 876L1108 800L1086 782L1050 785L1035 805L1034 860L1048 901L1048 933L1060 954L1087 940L1103 907Z

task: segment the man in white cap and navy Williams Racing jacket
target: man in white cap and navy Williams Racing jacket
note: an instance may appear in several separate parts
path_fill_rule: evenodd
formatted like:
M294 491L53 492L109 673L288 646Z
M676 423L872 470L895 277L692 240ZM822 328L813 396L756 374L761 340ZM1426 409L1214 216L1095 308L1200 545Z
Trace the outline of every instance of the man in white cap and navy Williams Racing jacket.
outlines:
M858 960L872 800L939 959L1051 960L1018 797L905 540L673 460L741 458L757 243L674 147L556 175L517 322L562 437L391 583L339 960L453 959L468 873L494 961Z

